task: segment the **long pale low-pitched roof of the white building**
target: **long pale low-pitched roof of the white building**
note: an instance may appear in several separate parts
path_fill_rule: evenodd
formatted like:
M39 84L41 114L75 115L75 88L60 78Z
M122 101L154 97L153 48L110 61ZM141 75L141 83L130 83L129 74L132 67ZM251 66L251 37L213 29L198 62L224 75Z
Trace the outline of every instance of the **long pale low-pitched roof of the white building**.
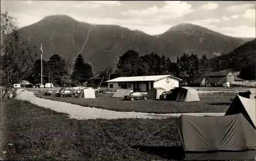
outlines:
M182 80L180 78L174 77L172 75L160 75L160 76L135 76L135 77L118 77L111 79L106 82L136 82L136 81L158 81L167 77L172 77L177 80Z

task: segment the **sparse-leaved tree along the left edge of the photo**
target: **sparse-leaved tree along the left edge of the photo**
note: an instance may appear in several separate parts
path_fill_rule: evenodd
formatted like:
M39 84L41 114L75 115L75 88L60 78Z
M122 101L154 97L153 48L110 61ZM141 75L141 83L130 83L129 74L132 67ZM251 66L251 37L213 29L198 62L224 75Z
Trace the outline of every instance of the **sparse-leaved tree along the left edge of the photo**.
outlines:
M35 47L29 47L13 20L8 12L1 13L1 106L8 100L6 95L11 86L27 78L34 63L32 50Z

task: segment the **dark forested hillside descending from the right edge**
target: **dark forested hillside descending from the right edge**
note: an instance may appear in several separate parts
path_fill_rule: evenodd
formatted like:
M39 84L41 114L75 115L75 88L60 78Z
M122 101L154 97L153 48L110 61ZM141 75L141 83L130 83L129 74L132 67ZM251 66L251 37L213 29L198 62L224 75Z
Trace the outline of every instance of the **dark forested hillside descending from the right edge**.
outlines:
M255 53L256 39L248 41L240 47L234 49L227 55L218 56L210 59L210 64L215 72L229 69L231 71L241 71L243 68L253 68L255 79Z

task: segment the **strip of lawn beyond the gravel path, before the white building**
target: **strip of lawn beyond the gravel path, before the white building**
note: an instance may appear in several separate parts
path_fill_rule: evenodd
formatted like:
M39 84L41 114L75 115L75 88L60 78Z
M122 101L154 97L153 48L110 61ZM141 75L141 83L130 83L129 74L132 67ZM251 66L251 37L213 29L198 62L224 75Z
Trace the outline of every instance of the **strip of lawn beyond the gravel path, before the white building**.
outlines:
M96 107L115 111L134 111L148 113L185 113L185 112L224 112L234 94L199 95L200 102L176 102L165 100L124 101L122 98L111 98L109 94L99 94L97 99L77 99L73 97L44 96L37 97L54 101L77 104L84 107Z

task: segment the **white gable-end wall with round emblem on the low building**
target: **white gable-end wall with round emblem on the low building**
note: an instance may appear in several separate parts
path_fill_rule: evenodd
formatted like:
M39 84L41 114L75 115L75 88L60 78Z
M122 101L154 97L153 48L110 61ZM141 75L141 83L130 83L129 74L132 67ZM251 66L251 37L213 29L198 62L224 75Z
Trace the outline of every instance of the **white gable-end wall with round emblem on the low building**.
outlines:
M170 80L169 83L166 82L166 78L156 81L156 82L154 82L154 87L162 87L166 91L173 89L174 87L179 87L178 80L173 79L172 77L170 77L169 80Z

